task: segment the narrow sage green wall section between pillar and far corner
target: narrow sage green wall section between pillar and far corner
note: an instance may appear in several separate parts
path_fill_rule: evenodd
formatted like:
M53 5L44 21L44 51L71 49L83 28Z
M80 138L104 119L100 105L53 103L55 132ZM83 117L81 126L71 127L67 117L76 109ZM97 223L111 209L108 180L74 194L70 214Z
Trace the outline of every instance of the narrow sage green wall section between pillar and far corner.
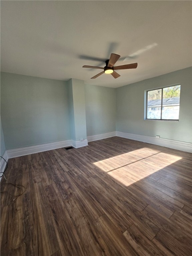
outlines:
M115 88L85 85L87 136L116 131Z

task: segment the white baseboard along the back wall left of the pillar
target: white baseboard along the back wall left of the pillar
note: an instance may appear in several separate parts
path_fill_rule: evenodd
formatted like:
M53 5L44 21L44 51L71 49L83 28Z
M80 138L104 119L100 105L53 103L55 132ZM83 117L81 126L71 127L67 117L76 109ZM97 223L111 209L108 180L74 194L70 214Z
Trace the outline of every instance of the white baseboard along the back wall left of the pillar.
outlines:
M25 155L35 154L35 153L39 153L47 150L64 148L69 146L71 146L71 140L61 140L57 142L45 143L45 144L40 144L35 146L8 149L7 156L8 158L13 158L13 157L25 156Z

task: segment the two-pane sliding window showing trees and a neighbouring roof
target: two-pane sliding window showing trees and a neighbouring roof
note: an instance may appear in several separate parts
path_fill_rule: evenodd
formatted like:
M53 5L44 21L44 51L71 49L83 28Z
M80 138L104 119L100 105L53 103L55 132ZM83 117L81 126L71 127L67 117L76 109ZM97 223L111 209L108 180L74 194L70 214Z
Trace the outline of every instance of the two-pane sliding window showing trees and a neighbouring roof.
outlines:
M146 119L179 120L181 85L146 91Z

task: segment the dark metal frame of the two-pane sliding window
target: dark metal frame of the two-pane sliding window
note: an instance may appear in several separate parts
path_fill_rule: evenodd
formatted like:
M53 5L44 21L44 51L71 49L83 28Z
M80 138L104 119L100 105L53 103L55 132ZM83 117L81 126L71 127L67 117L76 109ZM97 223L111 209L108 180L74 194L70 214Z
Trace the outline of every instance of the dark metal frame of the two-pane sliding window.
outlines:
M158 87L158 88L154 88L154 89L149 89L149 90L145 90L145 113L144 113L144 120L156 120L156 121L179 121L179 119L162 119L162 110L164 109L163 107L163 89L164 88L169 88L169 87L173 87L173 86L178 86L180 85L180 90L181 90L181 84L172 84L172 85L168 85L168 86L163 86L163 87ZM161 89L161 119L153 119L153 118L147 118L147 102L148 102L148 92L149 91L154 91L154 90L158 90ZM181 95L181 91L180 91L180 95ZM180 96L179 96L179 112L180 112Z

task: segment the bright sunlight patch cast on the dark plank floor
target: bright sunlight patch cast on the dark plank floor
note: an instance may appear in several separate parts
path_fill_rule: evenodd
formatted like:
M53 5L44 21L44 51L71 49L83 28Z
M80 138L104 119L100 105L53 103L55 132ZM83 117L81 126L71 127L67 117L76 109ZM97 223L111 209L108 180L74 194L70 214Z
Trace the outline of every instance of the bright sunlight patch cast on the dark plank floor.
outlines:
M143 148L95 162L94 165L129 186L180 159L182 157Z

